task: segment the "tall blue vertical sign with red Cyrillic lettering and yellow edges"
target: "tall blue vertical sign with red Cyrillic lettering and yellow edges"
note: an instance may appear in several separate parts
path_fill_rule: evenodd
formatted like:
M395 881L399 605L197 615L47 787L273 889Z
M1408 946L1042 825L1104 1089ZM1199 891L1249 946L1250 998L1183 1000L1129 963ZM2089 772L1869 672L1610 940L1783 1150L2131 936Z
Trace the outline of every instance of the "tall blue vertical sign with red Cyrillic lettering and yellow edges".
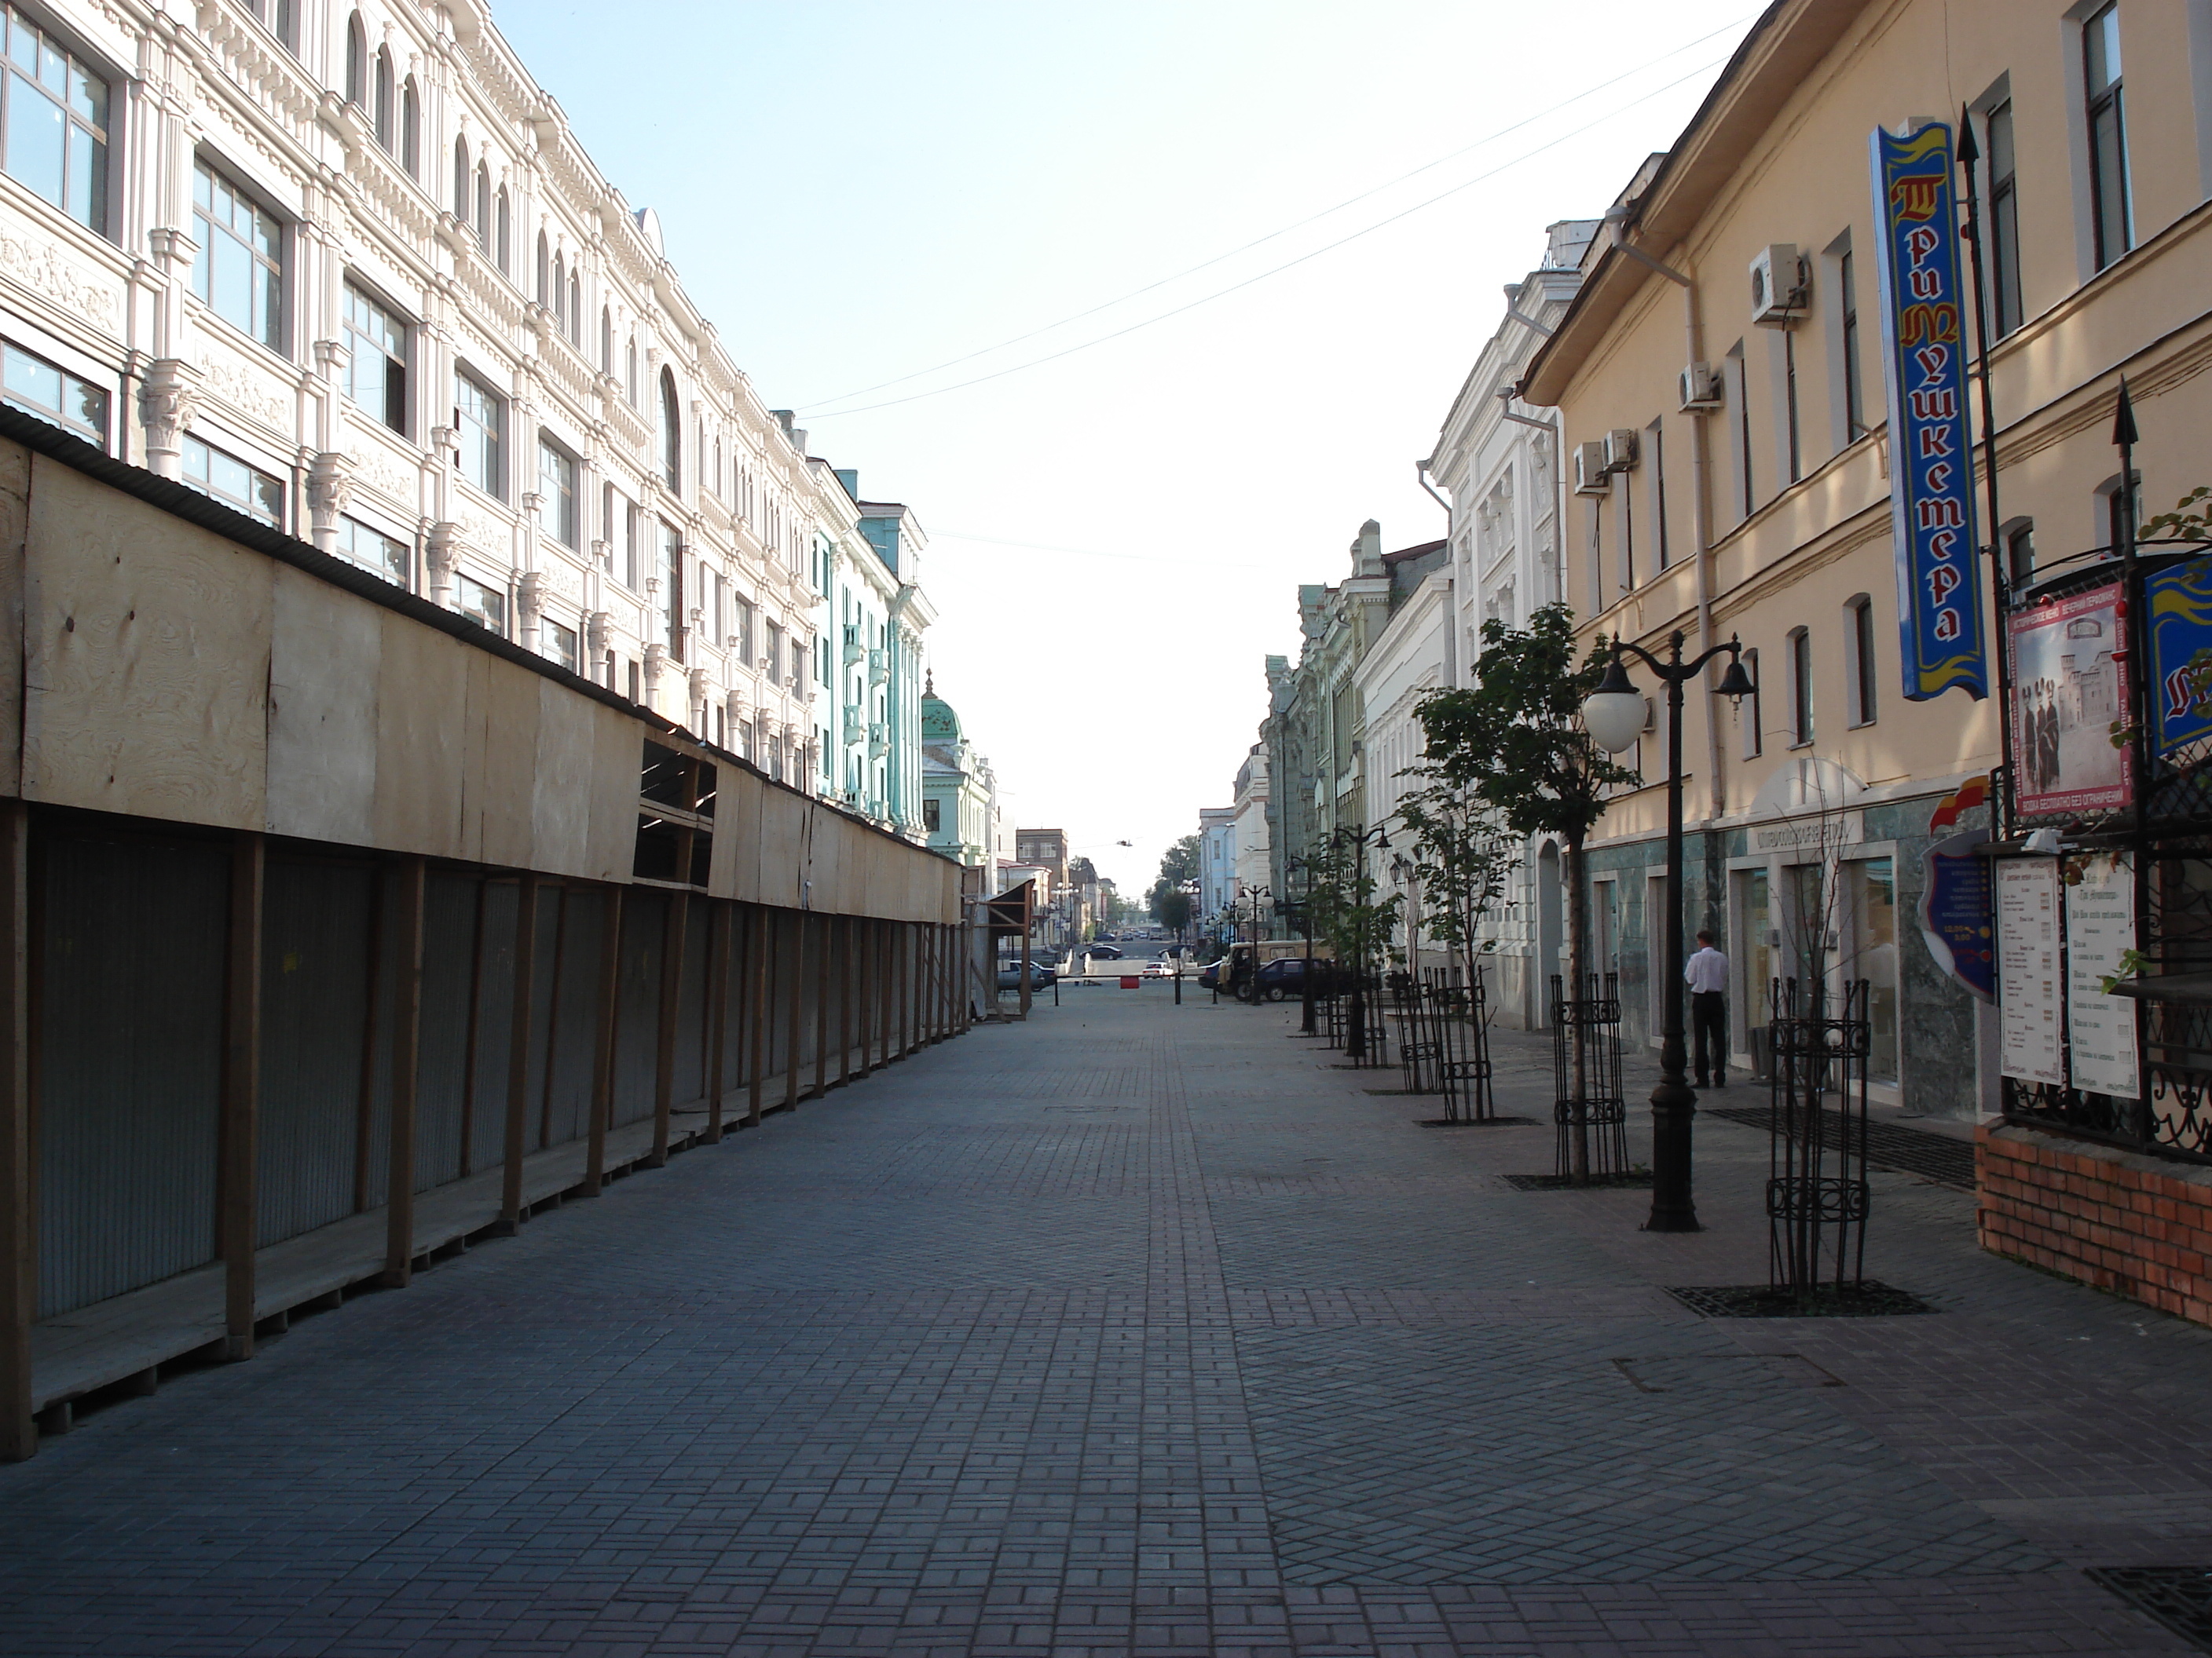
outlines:
M1882 369L1889 380L1889 515L1898 548L1905 696L1989 694L1973 544L1973 433L1960 321L1951 128L1871 144L1880 230Z

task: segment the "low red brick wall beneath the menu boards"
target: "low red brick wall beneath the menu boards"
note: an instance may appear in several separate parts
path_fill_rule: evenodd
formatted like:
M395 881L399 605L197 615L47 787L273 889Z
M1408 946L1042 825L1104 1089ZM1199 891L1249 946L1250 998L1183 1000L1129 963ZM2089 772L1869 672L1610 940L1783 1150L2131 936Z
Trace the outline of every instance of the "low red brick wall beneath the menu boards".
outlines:
M1973 1167L1984 1249L2212 1324L2212 1167L2017 1123L1975 1132Z

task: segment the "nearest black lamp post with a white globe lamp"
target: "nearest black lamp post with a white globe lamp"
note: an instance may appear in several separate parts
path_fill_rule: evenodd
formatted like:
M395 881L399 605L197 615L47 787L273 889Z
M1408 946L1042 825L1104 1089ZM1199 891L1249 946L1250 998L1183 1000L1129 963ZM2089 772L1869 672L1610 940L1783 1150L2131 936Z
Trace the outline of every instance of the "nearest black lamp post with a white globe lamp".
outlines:
M1690 1119L1697 1114L1697 1090L1683 1072L1688 1054L1681 1030L1681 688L1723 652L1728 672L1717 685L1721 696L1750 696L1752 679L1743 672L1743 648L1734 639L1694 661L1681 659L1679 630L1668 639L1666 661L1644 646L1615 639L1604 683L1582 703L1584 727L1608 754L1630 747L1644 732L1646 703L1621 668L1624 650L1637 654L1666 683L1666 1030L1659 1037L1659 1085L1652 1090L1652 1211L1644 1229L1699 1231L1697 1203L1690 1196ZM1725 1054L1721 1063L1728 1063Z

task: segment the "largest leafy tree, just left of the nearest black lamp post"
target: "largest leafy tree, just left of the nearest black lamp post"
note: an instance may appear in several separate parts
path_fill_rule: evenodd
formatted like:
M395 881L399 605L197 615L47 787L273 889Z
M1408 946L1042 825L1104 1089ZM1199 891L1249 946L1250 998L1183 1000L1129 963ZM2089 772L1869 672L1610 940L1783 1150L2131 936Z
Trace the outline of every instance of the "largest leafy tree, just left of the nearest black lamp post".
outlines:
M1491 807L1513 836L1557 836L1566 847L1566 988L1586 984L1582 842L1606 816L1606 791L1639 783L1582 727L1582 699L1606 674L1606 641L1575 665L1575 612L1548 604L1526 628L1482 623L1475 683L1431 692L1416 710L1429 743L1422 760L1438 785L1458 787ZM1575 1052L1575 1099L1586 1099L1582 1043ZM1575 1174L1588 1178L1588 1136L1575 1136Z

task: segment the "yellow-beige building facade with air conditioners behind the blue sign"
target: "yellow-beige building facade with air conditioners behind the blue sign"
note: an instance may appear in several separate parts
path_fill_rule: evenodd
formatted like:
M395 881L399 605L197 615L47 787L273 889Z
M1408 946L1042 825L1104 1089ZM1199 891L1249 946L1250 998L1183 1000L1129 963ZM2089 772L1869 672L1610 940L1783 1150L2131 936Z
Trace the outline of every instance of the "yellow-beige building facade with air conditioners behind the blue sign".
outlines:
M1522 396L1566 447L1564 597L1584 639L1741 639L1759 696L1688 692L1688 926L1732 957L1732 1048L1774 977L1865 977L1876 1096L1995 1110L1995 1024L1913 924L1929 820L2000 760L1991 696L1907 701L1869 135L1971 122L2011 579L2115 542L2126 376L2146 513L2212 482L2212 7L1785 0L1584 259ZM1953 177L1958 177L1953 172ZM1971 285L1971 279L1969 279ZM1962 329L1973 351L1971 312ZM1971 385L1980 398L1980 385ZM1982 418L1973 411L1975 462ZM1991 542L1984 480L1978 539ZM1641 688L1659 688L1641 674ZM1593 836L1593 966L1657 1041L1663 705L1644 787ZM1986 816L1969 811L1964 827Z

